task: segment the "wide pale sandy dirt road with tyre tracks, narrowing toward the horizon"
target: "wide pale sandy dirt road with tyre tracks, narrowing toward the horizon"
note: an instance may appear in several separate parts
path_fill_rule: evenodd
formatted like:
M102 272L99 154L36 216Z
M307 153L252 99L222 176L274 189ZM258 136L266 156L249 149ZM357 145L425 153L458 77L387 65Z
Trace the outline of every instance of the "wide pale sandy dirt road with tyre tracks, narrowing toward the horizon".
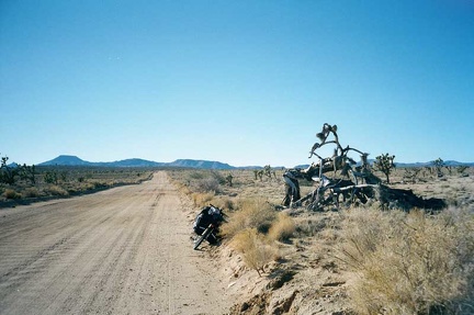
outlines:
M0 210L0 314L224 314L224 289L190 232L165 172Z

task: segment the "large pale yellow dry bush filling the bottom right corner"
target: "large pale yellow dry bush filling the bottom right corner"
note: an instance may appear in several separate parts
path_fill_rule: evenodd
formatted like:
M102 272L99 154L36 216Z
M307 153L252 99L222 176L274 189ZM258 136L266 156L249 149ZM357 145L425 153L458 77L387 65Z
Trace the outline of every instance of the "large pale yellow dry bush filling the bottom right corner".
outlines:
M340 258L358 274L358 314L474 313L472 213L353 209L343 225Z

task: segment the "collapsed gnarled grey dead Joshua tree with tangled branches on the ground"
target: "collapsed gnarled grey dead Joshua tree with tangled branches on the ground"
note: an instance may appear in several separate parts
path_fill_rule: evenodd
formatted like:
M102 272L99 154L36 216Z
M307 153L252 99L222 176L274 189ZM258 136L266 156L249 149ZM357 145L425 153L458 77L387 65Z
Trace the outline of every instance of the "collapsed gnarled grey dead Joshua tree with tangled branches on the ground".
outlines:
M325 206L339 207L340 196L343 202L366 203L369 200L377 200L383 207L395 203L400 207L409 209L441 209L445 204L441 200L425 201L413 194L411 191L394 190L381 184L381 179L373 172L369 164L369 154L350 146L343 147L339 142L337 125L325 123L323 130L316 134L319 142L315 143L309 151L309 158L317 157L318 161L313 162L306 169L289 169L283 173L286 184L284 206L300 206L307 204L309 210L323 210ZM318 150L323 146L334 145L331 157L321 157ZM360 155L361 161L357 164L349 153ZM374 165L387 177L395 167L395 156L388 154L377 157ZM339 173L338 173L339 172ZM329 177L331 173L331 177ZM317 182L316 189L301 198L298 179L313 180Z

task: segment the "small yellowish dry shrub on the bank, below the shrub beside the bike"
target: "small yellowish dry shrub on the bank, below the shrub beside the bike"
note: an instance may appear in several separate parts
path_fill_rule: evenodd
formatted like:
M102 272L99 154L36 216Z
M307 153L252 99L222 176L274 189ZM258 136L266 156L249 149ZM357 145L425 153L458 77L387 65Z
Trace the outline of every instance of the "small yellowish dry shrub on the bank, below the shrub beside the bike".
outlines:
M278 250L270 245L267 237L258 233L257 228L246 228L236 234L232 246L240 252L247 267L257 270L261 275L264 266L278 257Z

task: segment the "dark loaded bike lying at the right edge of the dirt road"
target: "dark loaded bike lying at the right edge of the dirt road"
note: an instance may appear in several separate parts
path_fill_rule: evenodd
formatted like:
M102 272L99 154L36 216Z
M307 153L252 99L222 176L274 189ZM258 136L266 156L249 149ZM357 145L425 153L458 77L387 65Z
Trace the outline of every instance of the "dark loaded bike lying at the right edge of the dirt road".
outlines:
M205 206L193 223L193 229L198 237L194 239L193 249L198 247L206 239L210 244L217 244L218 241L218 228L223 222L225 214L222 209L210 204Z

